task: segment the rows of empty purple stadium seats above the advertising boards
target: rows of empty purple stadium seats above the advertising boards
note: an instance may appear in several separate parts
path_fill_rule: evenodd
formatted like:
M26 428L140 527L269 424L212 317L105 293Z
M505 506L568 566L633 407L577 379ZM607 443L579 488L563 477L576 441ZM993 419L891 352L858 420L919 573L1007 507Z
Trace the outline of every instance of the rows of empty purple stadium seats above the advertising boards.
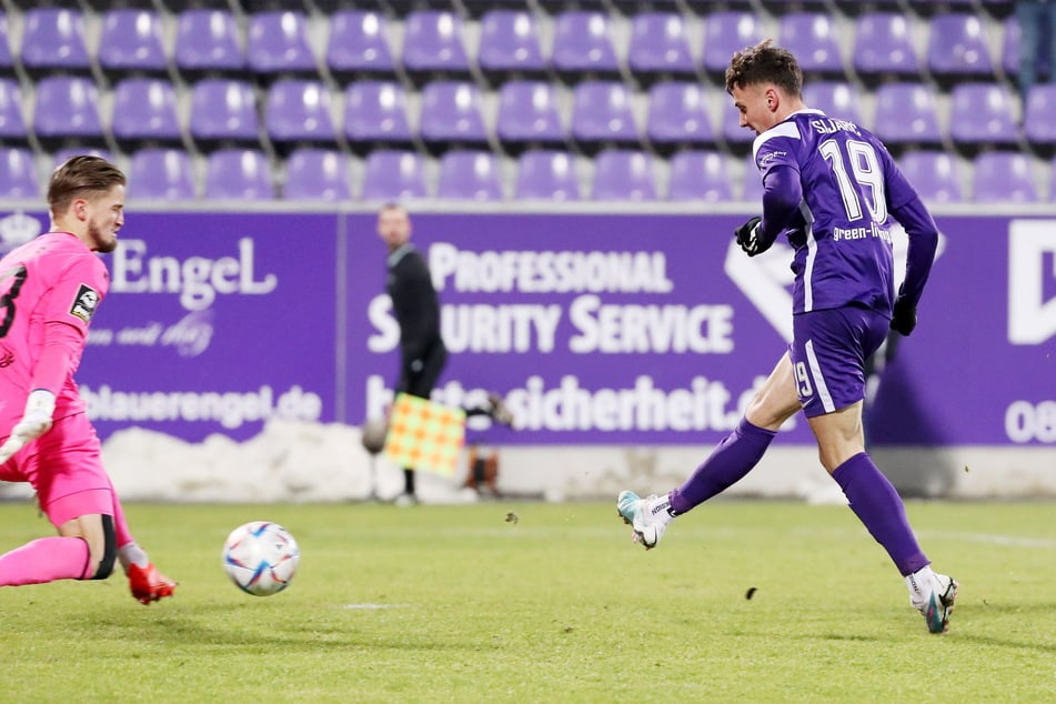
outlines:
M926 200L1056 183L1056 83L1020 102L1010 0L4 7L0 197L94 150L137 198L752 201L723 73L766 36L806 103L874 130Z

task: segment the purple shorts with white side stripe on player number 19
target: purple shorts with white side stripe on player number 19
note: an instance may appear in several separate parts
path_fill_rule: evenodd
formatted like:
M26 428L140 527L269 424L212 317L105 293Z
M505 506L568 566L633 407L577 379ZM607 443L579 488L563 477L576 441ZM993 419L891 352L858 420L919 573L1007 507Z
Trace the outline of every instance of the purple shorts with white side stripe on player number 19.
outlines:
M833 413L865 398L865 361L889 328L891 320L883 313L857 306L793 316L788 353L807 418Z

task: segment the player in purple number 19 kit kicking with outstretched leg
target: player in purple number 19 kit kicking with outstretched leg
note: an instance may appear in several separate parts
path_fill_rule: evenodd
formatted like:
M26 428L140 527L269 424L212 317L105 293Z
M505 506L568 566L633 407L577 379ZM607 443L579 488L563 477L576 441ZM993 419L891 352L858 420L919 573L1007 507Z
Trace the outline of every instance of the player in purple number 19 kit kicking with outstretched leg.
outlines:
M942 633L957 582L932 571L902 499L865 452L862 426L865 362L888 329L908 335L916 325L938 231L883 143L853 122L808 109L802 88L795 57L770 40L738 51L726 69L741 125L757 134L753 150L764 188L762 218L737 228L737 243L755 257L785 234L795 250L793 342L737 429L682 486L645 499L624 491L616 507L634 541L655 547L675 516L747 474L802 409L822 464L905 577L928 631ZM897 295L892 218L909 237Z

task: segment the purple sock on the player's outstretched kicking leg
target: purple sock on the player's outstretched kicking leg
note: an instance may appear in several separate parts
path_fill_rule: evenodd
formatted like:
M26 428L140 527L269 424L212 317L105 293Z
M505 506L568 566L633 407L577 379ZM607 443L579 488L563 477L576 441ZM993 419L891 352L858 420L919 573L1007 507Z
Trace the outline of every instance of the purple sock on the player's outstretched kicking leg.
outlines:
M737 428L718 443L690 479L667 494L672 511L685 513L733 486L758 464L776 434L742 418Z

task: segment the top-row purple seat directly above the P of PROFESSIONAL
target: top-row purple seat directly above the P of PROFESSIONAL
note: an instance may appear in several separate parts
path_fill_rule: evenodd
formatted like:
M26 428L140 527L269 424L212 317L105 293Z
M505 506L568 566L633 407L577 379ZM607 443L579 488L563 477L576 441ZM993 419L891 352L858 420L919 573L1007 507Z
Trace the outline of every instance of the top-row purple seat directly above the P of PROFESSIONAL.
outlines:
M470 59L462 40L462 20L450 11L419 10L404 21L403 66L416 78L441 73L463 77Z

